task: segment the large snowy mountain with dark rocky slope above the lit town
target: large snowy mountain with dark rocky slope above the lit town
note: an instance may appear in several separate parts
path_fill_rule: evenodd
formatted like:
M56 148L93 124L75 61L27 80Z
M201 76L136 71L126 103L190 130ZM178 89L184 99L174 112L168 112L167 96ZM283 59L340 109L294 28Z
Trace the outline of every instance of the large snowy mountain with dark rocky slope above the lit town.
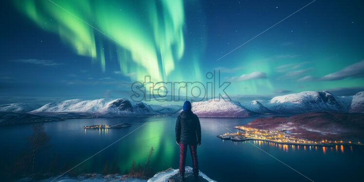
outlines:
M265 107L280 113L307 113L312 111L348 111L343 100L338 101L328 91L302 91L273 97Z

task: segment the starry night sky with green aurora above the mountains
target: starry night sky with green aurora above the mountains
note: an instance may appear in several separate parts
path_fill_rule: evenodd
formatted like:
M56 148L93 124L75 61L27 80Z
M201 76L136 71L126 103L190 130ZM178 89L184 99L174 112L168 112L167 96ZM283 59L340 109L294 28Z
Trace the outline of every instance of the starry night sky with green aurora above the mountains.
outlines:
M311 1L5 0L0 104L128 98L145 75L205 83L214 70L238 101L363 91L361 0L316 0L242 45Z

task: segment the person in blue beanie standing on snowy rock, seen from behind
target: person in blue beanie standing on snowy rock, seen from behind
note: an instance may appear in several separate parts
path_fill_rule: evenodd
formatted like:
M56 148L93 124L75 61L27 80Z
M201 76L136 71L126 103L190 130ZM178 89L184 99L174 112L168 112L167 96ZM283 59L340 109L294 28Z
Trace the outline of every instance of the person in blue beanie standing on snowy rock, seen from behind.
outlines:
M180 180L184 180L187 146L190 148L193 174L199 178L199 162L197 160L197 145L201 146L201 126L196 114L191 111L191 103L184 102L183 111L176 122L176 143L180 145Z

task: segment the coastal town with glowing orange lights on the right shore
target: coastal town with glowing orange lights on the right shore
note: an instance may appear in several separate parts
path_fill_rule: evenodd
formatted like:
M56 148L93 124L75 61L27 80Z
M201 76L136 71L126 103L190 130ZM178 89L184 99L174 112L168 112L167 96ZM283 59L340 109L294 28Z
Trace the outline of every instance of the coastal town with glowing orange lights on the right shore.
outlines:
M305 138L300 138L294 136L294 133L289 131L273 131L273 130L264 130L264 129L256 129L251 127L237 126L234 127L241 132L236 133L224 133L222 135L218 135L218 138L222 140L232 140L236 142L240 141L248 141L248 140L258 140L258 141L266 141L266 142L274 142L278 144L292 144L292 145L306 145L306 146L334 146L337 144L354 144L351 141L312 141ZM357 145L361 145L360 142L355 143Z

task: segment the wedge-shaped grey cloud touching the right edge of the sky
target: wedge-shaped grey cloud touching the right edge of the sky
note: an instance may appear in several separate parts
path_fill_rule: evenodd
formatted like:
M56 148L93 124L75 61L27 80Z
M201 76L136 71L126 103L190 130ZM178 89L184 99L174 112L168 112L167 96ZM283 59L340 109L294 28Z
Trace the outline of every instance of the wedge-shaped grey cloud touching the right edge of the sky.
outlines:
M321 77L320 80L341 80L347 77L364 77L364 60L347 66L338 72L327 74Z

